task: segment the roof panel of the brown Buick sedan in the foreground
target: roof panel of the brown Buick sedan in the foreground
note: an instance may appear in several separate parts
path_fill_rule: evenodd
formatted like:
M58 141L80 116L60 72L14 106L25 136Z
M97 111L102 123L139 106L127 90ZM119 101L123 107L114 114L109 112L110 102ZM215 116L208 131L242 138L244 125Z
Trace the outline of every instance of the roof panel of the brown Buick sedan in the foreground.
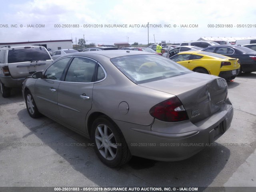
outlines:
M129 56L129 55L144 55L144 54L152 54L156 55L154 53L150 52L144 52L144 51L134 51L134 50L108 50L108 51L92 51L92 52L76 52L76 53L70 53L66 54L66 56L105 56L108 58L116 58L116 57L122 57L122 56ZM65 57L65 56L63 56Z

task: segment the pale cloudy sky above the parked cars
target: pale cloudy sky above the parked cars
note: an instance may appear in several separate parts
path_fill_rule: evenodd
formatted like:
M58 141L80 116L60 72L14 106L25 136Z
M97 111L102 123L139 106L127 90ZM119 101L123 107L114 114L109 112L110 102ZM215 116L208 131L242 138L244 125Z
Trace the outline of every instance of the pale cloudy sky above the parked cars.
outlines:
M1 0L1 43L73 39L75 44L85 38L86 44L147 44L148 38L173 43L250 36L256 36L252 0Z

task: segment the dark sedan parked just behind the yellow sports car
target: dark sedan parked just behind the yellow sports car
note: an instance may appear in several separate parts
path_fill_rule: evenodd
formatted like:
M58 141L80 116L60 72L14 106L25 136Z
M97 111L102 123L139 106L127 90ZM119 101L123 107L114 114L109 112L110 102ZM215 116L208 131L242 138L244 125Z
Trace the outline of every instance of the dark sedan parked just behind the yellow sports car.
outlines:
M256 71L256 51L247 47L236 45L211 46L202 51L217 53L240 60L240 73L250 73Z

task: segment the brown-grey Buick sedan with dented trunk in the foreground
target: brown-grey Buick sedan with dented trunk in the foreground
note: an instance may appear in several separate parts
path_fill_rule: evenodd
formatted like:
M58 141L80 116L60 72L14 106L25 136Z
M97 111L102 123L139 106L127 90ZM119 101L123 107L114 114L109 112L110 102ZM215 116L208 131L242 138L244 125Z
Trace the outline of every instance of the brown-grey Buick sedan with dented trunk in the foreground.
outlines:
M189 158L226 132L233 118L223 78L143 51L69 54L27 78L22 92L32 118L44 114L91 138L110 167L131 155Z

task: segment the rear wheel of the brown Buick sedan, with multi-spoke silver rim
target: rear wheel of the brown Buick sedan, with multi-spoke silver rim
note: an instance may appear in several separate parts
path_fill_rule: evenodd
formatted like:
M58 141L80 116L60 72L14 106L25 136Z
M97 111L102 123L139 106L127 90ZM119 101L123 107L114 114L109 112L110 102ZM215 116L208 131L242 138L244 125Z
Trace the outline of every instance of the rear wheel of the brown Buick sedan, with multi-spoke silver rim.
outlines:
M119 167L131 158L130 150L118 126L106 116L92 124L91 138L100 160L109 167Z

